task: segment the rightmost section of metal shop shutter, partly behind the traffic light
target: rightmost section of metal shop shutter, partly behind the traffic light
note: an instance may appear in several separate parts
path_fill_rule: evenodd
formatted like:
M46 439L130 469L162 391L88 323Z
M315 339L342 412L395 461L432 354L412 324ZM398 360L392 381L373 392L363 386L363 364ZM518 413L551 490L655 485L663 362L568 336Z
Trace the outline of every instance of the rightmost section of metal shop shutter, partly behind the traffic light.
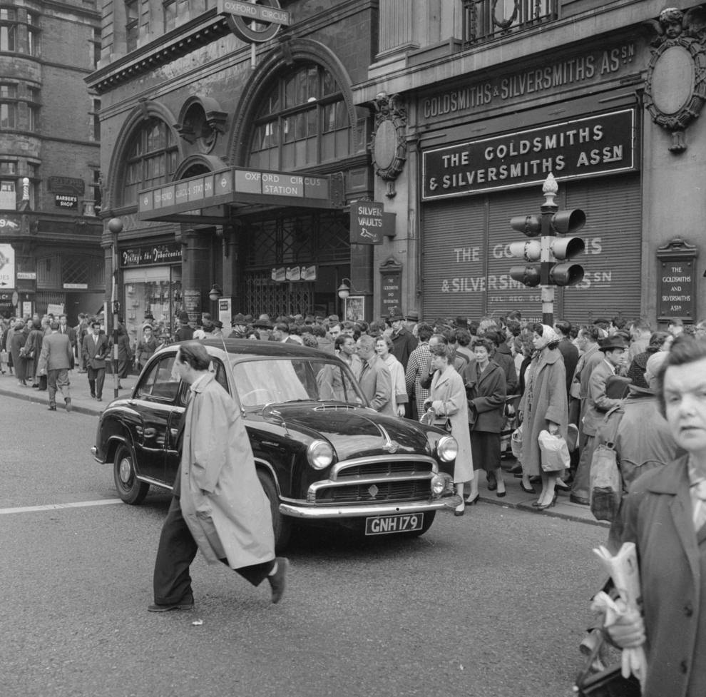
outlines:
M560 193L563 188L559 185ZM585 270L583 283L563 289L561 316L591 322L619 313L640 317L642 291L642 199L639 175L616 175L566 185L562 207L582 208L585 254L576 258ZM559 315L555 315L556 319Z

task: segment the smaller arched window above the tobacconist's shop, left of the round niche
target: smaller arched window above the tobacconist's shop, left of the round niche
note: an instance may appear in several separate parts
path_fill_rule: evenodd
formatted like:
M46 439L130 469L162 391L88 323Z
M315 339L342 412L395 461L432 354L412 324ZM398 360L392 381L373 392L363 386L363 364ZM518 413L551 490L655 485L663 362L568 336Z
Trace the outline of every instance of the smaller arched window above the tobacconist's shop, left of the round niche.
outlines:
M177 161L178 150L172 129L160 118L143 121L128 146L120 203L137 203L140 189L171 181Z

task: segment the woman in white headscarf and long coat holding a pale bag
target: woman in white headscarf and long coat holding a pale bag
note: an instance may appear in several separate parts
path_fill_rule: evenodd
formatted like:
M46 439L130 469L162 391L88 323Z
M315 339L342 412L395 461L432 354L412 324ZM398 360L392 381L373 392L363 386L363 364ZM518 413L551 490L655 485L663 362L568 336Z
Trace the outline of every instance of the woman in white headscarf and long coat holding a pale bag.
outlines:
M541 475L542 491L532 505L546 510L556 503L556 479L561 470L545 472L541 465L539 434L548 431L566 438L568 400L566 370L557 346L561 337L549 325L536 324L532 334L535 355L526 373L520 402L522 467L526 477Z

